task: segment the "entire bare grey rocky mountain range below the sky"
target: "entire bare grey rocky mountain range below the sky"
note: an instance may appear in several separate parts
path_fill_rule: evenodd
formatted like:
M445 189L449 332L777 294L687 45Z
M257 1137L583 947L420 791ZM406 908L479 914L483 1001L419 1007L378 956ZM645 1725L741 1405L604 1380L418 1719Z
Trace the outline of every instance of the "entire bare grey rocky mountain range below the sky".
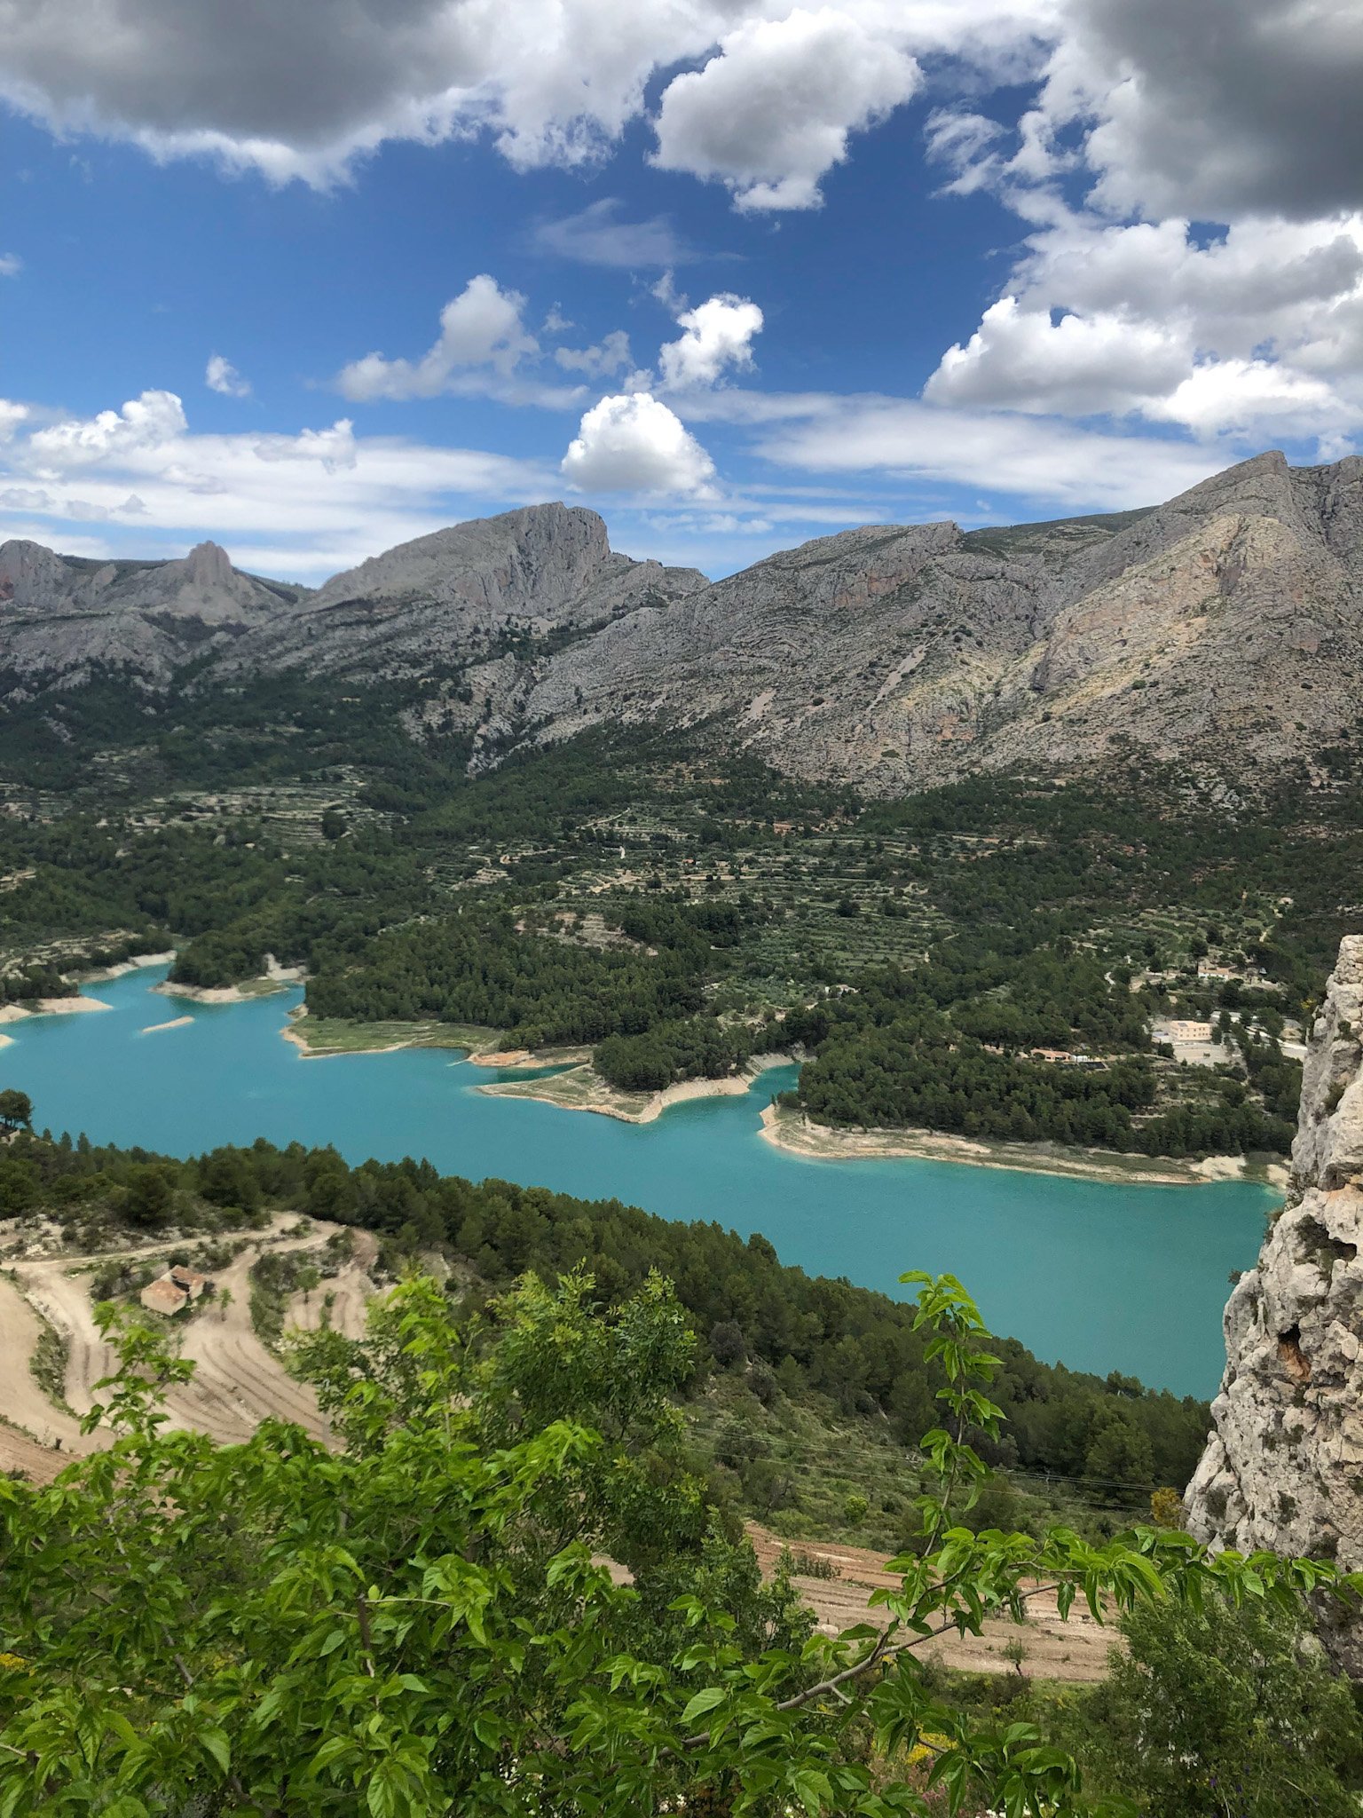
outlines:
M1129 754L1272 778L1347 738L1363 684L1363 460L1279 453L1165 505L963 531L869 525L720 582L547 504L402 544L318 589L0 545L0 685L165 689L305 665L427 676L474 762L602 722L901 793Z

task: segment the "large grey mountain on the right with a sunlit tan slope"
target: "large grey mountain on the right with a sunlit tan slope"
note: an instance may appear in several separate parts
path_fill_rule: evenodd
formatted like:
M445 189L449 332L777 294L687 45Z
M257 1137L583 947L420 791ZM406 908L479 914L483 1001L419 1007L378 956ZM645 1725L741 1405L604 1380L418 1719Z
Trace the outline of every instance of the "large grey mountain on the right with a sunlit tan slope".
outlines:
M1272 774L1339 740L1361 680L1363 460L1261 454L1149 513L820 538L516 689L531 736L707 724L789 773L898 793L1127 751Z

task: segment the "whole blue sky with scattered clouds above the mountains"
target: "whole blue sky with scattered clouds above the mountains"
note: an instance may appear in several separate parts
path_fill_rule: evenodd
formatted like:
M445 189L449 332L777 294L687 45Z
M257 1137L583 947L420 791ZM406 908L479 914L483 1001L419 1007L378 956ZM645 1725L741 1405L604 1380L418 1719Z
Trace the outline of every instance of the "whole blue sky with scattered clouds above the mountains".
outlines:
M0 538L320 580L562 496L720 574L1354 449L1345 0L380 11L18 7Z

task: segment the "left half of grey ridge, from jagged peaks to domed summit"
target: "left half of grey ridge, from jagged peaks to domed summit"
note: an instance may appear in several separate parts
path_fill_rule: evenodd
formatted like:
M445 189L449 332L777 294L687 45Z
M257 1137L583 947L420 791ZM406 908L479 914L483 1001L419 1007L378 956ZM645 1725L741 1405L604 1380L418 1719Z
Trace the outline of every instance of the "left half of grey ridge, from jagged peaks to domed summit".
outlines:
M7 542L0 669L67 687L96 669L164 687L189 662L218 678L302 665L360 678L451 673L705 585L698 569L618 554L594 511L562 504L420 536L318 589L244 574L216 544L180 562L100 564Z

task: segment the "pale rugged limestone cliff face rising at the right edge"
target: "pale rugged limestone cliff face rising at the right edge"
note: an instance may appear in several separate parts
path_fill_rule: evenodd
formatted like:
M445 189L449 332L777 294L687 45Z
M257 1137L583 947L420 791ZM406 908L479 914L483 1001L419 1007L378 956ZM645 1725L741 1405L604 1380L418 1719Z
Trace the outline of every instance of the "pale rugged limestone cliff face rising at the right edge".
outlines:
M1292 1184L1225 1309L1227 1369L1189 1489L1199 1540L1363 1567L1363 936L1339 947L1301 1084ZM1363 1622L1327 1611L1363 1676Z

